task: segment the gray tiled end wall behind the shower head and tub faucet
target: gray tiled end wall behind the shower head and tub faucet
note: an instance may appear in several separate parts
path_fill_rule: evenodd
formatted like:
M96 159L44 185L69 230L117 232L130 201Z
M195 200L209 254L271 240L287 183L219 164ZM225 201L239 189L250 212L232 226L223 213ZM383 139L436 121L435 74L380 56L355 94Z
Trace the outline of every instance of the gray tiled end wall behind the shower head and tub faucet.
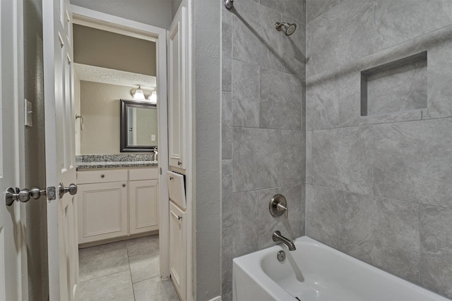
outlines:
M241 0L222 8L222 298L232 258L304 234L305 1ZM276 22L297 23L290 37ZM268 212L285 195L289 219Z

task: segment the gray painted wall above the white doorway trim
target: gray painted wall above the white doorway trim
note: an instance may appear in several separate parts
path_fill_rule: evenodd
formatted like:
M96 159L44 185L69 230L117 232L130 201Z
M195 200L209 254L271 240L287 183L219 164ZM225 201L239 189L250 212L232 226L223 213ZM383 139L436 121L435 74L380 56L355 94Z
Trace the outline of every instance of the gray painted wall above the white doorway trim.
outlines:
M71 4L166 29L172 20L169 0L71 0Z

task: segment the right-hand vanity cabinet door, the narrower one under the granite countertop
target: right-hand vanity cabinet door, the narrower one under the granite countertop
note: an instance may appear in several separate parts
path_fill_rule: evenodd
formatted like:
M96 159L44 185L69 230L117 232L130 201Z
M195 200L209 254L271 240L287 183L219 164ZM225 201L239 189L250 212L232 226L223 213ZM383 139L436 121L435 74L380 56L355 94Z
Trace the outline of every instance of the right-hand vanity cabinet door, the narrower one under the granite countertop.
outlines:
M158 180L129 181L130 234L158 230Z

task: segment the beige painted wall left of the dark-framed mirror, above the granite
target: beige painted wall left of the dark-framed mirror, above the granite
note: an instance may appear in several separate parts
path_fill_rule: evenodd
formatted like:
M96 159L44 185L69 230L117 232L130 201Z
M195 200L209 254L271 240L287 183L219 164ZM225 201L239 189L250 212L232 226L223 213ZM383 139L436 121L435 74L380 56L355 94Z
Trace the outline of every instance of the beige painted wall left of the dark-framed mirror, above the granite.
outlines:
M120 99L132 99L131 87L81 81L81 154L120 154Z

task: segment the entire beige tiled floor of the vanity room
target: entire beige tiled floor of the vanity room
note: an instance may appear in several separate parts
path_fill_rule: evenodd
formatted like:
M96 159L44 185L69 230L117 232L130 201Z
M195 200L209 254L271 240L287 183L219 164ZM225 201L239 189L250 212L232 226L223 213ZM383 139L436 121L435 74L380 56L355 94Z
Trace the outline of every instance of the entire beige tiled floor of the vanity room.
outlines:
M81 301L179 301L159 276L158 235L78 250Z

